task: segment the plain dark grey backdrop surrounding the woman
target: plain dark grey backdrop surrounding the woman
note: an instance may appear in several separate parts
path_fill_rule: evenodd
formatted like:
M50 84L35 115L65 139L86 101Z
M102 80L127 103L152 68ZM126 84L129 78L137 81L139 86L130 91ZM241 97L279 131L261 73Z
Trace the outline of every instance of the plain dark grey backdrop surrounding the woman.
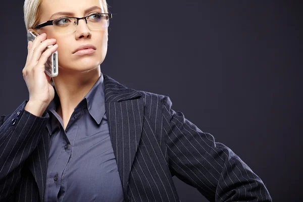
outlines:
M274 201L301 201L301 1L113 1L102 72L169 95L173 109L229 146ZM28 90L23 1L1 7L0 114ZM177 178L182 201L207 201Z

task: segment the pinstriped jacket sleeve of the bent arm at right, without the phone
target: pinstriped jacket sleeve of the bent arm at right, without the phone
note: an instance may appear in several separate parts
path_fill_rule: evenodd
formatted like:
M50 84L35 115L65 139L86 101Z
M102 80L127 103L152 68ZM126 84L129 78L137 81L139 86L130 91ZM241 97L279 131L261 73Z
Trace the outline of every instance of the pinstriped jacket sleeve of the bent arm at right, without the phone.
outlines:
M163 133L172 175L210 201L272 201L263 181L222 143L163 100Z

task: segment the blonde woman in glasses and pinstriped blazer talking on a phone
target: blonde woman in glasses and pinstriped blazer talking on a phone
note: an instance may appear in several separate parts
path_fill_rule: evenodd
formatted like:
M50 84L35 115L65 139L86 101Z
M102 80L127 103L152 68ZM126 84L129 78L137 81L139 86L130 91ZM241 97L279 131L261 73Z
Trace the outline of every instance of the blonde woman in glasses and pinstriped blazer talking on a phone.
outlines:
M169 97L101 73L105 0L26 0L24 16L40 35L22 71L29 100L0 118L0 200L178 201L176 175L210 201L271 201L262 180ZM57 50L53 86L44 65Z

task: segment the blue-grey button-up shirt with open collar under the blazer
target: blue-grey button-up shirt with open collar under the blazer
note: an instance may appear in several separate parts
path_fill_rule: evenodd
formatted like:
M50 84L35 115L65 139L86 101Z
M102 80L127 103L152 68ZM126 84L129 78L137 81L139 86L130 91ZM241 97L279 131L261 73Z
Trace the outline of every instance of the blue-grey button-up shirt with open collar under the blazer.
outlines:
M51 135L44 201L123 201L123 190L105 111L103 74L74 109L67 124L56 109L47 112Z

